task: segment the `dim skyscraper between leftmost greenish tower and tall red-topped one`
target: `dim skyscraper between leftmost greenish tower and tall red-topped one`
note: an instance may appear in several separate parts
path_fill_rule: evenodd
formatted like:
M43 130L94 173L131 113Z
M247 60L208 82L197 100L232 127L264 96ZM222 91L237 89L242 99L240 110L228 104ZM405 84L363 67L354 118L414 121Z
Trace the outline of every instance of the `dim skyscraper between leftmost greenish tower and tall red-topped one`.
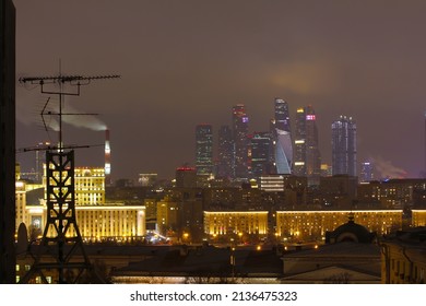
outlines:
M234 177L234 140L229 126L222 126L218 130L217 145L217 177Z

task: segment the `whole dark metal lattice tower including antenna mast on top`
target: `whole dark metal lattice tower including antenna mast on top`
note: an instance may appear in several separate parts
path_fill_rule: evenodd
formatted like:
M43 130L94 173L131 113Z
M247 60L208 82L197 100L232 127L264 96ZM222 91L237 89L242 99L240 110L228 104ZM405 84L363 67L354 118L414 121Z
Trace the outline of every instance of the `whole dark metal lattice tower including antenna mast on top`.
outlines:
M62 116L86 115L63 114L62 102L64 95L80 95L80 86L88 84L92 80L115 79L119 75L59 75L22 78L21 83L39 84L42 93L57 94L59 96L59 142L57 148L49 148L46 152L46 226L40 244L34 257L29 271L21 279L21 283L40 281L48 283L45 271L56 269L58 283L78 283L84 272L93 273L91 261L85 252L83 239L75 219L75 185L74 185L74 151L73 148L62 143ZM75 85L76 91L63 92L63 84ZM45 91L46 84L59 84L59 91ZM43 116L42 111L42 116ZM99 279L99 282L103 280Z

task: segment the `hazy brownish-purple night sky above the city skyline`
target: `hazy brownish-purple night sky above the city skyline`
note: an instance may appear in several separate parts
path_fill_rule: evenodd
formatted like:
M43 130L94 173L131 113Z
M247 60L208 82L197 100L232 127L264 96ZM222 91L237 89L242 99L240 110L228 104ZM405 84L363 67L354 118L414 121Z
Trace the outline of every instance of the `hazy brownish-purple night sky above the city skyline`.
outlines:
M315 108L323 163L331 123L346 115L357 122L358 162L374 158L393 177L425 167L425 1L13 2L17 78L121 75L66 98L70 113L99 114L63 126L67 143L93 145L76 151L80 166L103 166L96 145L107 126L114 179L170 178L194 164L196 125L213 125L216 137L242 103L249 130L267 131L281 97L292 123L297 107ZM39 116L48 97L17 83L17 149L57 140ZM17 155L23 170L32 158Z

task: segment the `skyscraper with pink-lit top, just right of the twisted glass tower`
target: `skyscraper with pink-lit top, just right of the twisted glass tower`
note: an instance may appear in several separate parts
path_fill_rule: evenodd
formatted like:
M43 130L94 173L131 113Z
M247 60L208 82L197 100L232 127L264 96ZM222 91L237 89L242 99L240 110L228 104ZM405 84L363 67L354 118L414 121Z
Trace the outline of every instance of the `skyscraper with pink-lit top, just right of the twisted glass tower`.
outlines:
M317 116L311 106L296 113L294 174L308 177L309 185L318 185L321 175Z

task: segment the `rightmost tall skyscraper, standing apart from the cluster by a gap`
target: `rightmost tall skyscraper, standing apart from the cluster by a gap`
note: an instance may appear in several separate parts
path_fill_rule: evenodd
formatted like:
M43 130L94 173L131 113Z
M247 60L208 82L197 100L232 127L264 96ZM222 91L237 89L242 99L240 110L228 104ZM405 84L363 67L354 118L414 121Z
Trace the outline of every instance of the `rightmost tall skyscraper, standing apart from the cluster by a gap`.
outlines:
M333 175L356 176L356 122L346 116L331 125Z

